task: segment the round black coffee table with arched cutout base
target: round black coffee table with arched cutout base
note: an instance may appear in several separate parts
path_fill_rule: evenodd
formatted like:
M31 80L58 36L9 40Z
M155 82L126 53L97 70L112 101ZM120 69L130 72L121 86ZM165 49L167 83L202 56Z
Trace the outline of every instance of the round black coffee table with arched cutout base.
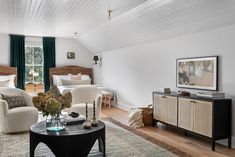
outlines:
M30 128L30 157L42 142L56 157L86 157L96 140L99 151L105 156L105 124L99 121L97 127L84 129L82 124L66 125L60 132L48 132L46 122L39 122Z

